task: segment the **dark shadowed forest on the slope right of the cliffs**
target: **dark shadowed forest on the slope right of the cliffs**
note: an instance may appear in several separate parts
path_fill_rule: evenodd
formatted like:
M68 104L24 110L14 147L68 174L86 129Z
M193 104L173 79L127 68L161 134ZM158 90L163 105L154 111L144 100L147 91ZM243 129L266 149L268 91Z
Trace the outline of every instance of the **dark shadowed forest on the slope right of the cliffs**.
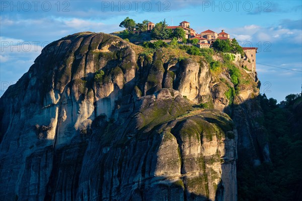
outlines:
M258 96L264 116L257 119L257 123L266 129L263 136L269 141L271 162L257 167L238 164L238 200L300 200L301 100L299 94L286 97L284 102L290 103L280 105L265 94Z

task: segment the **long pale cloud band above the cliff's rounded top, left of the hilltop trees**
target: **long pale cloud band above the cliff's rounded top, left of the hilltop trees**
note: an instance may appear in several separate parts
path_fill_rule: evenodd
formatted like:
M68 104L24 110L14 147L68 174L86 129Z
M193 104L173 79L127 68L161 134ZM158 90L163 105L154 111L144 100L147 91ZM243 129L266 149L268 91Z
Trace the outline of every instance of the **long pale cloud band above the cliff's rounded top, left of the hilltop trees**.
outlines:
M4 20L9 20L9 18L0 19L1 29L5 30L5 32L1 34L2 36L14 36L16 38L22 36L27 40L30 38L33 41L40 41L41 43L44 42L42 40L46 38L49 41L53 41L59 37L83 31L111 33L122 30L122 28L118 26L119 24L105 24L106 20L94 21L80 18L55 18L53 16L38 20L16 18L13 20L11 26L3 26ZM28 31L29 27L35 31Z

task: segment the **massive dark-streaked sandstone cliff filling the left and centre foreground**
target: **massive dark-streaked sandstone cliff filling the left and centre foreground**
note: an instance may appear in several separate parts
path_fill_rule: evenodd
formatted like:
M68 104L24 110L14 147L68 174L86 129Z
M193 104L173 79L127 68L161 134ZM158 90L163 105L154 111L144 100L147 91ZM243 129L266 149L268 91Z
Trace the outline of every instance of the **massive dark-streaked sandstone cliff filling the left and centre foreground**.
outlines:
M192 108L212 101L207 63L136 48L102 33L66 36L6 91L4 200L237 199L235 125Z

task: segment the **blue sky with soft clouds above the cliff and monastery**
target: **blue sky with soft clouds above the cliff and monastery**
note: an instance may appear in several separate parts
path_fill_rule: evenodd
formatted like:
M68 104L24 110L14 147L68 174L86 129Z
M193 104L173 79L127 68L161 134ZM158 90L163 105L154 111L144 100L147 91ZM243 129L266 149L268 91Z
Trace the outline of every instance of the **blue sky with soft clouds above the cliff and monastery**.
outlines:
M302 86L301 1L0 1L0 95L33 64L43 47L77 32L121 31L166 19L190 22L197 33L222 29L242 46L258 47L260 93L278 102ZM276 68L277 67L277 68ZM285 70L288 69L288 70Z

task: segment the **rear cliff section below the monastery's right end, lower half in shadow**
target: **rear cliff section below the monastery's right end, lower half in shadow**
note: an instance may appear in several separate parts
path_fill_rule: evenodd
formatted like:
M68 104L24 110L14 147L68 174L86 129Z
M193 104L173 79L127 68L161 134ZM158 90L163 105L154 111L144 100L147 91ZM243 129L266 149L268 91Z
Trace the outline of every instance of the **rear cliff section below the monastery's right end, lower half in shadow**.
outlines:
M217 56L214 56L214 58L216 60L221 59ZM237 61L234 61L234 63L238 64ZM235 123L239 133L239 162L257 166L262 162L270 162L267 133L261 123L258 122L264 118L257 99L260 83L258 83L258 80L255 81L254 76L256 74L251 75L251 72L247 73L244 69L241 69L241 71L242 80L248 84L239 83L235 86L231 81L230 73L221 72L219 75L212 77L210 94L212 95L213 107L228 113ZM226 93L230 90L234 93L234 97L231 99L226 96Z

